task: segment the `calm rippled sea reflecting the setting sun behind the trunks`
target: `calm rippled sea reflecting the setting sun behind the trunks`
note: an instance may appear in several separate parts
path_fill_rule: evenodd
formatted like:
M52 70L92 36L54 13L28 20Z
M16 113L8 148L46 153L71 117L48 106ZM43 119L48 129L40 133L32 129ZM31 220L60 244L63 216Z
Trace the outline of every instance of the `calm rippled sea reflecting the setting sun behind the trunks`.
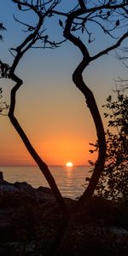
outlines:
M61 190L61 194L73 199L84 192L85 177L90 176L90 166L49 166L49 170L55 177L55 182ZM39 186L49 187L37 166L1 166L0 172L3 172L4 179L10 183L24 181L34 188Z

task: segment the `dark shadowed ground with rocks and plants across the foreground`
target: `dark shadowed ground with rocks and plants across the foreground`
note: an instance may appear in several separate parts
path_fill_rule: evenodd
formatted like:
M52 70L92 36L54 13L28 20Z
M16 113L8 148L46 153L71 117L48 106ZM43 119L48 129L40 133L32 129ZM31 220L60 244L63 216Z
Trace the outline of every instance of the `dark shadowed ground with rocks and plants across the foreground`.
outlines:
M0 187L0 255L53 255L64 222L51 190L27 183ZM65 201L72 218L55 255L128 255L128 201L94 196L78 213L75 201Z

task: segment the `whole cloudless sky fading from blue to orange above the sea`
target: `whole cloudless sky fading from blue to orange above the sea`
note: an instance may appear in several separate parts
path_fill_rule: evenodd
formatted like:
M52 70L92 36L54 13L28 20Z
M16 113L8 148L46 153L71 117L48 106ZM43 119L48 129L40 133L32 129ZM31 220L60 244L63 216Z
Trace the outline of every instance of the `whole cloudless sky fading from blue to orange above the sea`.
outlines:
M62 3L69 8L69 1ZM0 21L7 32L3 32L4 40L0 43L0 59L9 64L13 61L9 48L20 44L25 37L13 14L21 20L26 18L12 1L1 0ZM27 19L34 21L35 17L27 15ZM61 32L56 19L55 24L49 26L49 33L52 38L61 39ZM109 44L99 31L96 41L90 45L90 53ZM79 49L67 42L58 49L31 49L16 69L24 84L17 95L15 115L48 165L65 165L69 160L74 165L87 165L88 160L95 158L89 153L89 143L96 142L95 127L84 96L72 81L73 70L80 60ZM94 61L84 72L84 79L96 96L101 113L102 104L113 93L113 79L118 75L126 78L126 70L115 58L115 52ZM3 99L9 103L13 83L1 79L1 86ZM0 166L33 164L9 118L0 116Z

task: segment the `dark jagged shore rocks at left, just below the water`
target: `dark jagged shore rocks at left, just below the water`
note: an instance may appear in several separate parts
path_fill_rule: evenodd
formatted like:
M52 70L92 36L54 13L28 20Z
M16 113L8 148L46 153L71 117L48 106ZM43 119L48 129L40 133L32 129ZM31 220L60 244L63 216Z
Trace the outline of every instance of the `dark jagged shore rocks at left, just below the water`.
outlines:
M3 180L0 183L0 204L6 206L15 207L17 204L24 204L24 201L30 201L31 199L37 201L39 204L53 203L55 197L51 189L46 187L39 187L38 189L32 188L32 186L26 182L8 183Z

